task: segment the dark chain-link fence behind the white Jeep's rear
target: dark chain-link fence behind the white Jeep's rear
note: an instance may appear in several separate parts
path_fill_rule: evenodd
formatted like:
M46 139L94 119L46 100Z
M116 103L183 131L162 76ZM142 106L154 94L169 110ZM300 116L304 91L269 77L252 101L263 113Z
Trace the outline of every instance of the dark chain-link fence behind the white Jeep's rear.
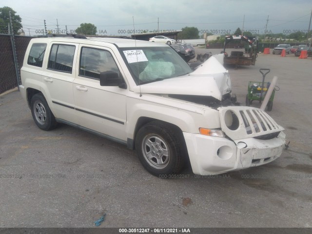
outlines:
M14 36L19 68L23 65L24 55L30 39L33 37ZM0 94L18 86L11 35L0 35ZM19 80L20 83L20 80Z

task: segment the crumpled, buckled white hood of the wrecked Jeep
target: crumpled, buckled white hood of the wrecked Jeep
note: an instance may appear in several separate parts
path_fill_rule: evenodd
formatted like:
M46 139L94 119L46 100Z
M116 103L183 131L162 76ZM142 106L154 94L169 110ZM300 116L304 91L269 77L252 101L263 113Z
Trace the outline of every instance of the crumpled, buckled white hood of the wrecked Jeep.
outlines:
M186 76L142 84L133 90L148 94L211 96L221 100L222 95L231 92L231 80L222 64L211 57Z

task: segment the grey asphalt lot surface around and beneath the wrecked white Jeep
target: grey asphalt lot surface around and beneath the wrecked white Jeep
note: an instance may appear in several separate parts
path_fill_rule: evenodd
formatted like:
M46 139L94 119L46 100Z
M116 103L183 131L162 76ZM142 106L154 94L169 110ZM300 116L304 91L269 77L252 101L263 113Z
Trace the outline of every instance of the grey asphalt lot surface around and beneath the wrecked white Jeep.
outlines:
M197 53L220 49L197 49ZM218 176L151 176L126 146L67 125L40 130L18 91L0 97L0 227L312 227L312 59L259 54L228 67L243 105L248 81L278 76L269 114L289 149L270 164ZM258 103L253 106L259 107Z

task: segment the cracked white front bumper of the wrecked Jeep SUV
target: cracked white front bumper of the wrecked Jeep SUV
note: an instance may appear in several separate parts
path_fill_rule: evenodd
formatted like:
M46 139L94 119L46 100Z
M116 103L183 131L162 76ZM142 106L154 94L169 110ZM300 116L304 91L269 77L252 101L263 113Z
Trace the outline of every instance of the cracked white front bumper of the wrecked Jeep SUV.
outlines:
M197 175L217 175L272 162L285 147L285 134L273 139L230 140L183 133L192 170Z

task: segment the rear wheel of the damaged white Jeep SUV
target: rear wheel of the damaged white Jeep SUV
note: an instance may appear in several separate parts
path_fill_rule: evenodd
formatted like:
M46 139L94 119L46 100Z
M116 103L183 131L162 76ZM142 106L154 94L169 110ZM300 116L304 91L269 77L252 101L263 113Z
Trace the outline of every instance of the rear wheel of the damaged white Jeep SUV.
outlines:
M33 119L40 129L49 131L57 126L57 121L41 94L35 94L31 98L30 107Z

